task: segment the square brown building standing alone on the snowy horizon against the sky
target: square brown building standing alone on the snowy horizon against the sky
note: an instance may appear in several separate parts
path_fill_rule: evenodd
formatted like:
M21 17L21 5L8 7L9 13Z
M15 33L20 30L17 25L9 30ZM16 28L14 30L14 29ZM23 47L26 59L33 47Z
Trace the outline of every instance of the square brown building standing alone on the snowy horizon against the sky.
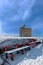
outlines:
M20 37L31 37L32 36L32 32L31 32L31 28L26 28L25 25L23 25L20 28Z

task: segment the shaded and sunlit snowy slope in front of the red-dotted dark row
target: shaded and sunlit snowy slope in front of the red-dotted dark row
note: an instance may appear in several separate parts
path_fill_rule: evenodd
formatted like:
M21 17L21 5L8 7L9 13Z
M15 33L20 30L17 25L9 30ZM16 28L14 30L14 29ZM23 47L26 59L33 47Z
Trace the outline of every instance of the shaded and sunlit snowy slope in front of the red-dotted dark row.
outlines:
M33 48L31 51L25 51L22 54L15 54L14 61L7 59L10 65L43 65L43 43ZM5 63L5 65L9 65Z

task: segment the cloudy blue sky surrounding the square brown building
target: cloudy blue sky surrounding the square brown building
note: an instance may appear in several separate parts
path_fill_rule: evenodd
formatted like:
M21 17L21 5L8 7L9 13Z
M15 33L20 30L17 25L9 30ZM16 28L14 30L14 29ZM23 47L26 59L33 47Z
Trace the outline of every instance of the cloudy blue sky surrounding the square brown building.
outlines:
M0 34L19 36L23 24L43 36L43 0L0 0Z

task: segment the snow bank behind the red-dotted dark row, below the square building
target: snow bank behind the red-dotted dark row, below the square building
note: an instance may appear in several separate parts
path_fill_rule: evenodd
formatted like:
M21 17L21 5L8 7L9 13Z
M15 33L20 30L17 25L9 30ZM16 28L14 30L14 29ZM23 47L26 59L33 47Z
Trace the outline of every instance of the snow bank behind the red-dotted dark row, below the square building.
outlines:
M15 42L22 43L20 40L17 42L17 40L15 40L15 41L9 40L8 41L8 39L29 39L29 38L35 38L35 39L38 39L38 41L39 40L42 41L41 39L43 37L13 37L13 36L8 36L8 35L3 35L3 36L0 35L0 47L15 44ZM5 41L5 40L7 40L7 41ZM2 44L2 41L5 41L5 42L3 42L3 44Z

